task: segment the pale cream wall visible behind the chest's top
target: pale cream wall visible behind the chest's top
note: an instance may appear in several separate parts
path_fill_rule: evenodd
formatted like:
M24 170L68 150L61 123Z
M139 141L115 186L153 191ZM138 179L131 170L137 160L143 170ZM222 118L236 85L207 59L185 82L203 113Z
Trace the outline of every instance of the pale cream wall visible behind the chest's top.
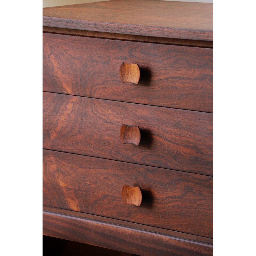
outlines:
M60 5L68 5L68 4L84 4L84 3L102 2L102 1L106 1L106 0L43 0L43 7L60 6ZM164 1L173 1L173 0L164 0ZM175 1L213 3L213 0L175 0Z

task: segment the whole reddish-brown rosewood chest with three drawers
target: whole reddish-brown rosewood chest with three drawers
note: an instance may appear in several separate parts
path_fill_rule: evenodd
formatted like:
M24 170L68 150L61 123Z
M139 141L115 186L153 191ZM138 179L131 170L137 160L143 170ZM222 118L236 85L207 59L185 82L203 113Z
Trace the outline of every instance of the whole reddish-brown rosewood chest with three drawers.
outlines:
M43 234L212 255L212 4L43 9Z

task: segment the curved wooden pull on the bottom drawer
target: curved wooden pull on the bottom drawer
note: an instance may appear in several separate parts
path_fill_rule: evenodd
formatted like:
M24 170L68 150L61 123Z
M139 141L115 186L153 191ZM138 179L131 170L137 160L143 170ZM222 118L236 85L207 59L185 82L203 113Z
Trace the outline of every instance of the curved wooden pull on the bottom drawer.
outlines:
M121 196L124 204L133 204L136 206L140 206L141 204L142 194L139 187L123 185Z

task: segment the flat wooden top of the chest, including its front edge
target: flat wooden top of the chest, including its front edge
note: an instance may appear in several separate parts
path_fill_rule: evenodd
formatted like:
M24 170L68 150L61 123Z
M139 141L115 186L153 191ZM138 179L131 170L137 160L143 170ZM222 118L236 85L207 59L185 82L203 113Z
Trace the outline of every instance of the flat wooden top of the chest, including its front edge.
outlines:
M114 0L43 8L43 26L213 40L212 4Z

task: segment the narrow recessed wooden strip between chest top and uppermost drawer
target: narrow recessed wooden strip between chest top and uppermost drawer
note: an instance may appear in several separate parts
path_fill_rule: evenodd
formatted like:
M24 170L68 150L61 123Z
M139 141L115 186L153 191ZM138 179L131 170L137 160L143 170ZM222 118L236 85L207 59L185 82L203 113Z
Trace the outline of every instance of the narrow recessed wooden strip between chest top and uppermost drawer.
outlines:
M166 38L166 37L156 37L156 36L125 35L125 34L117 34L117 33L77 30L77 29L70 29L70 28L54 28L54 27L45 27L45 26L43 26L43 32L55 33L55 34L66 34L66 35L77 35L77 36L91 36L91 37L107 38L107 39L120 39L120 40L136 41L136 42L176 44L176 45L213 48L212 41L202 41L202 40L186 40L186 39L179 39L179 38Z

